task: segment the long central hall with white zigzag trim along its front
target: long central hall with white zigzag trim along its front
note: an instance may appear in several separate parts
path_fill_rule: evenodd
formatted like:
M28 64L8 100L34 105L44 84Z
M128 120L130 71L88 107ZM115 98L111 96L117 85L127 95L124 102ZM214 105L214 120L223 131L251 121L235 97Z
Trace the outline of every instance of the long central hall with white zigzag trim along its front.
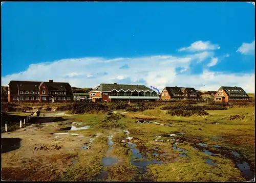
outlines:
M92 101L157 100L157 92L144 85L100 84L90 92Z

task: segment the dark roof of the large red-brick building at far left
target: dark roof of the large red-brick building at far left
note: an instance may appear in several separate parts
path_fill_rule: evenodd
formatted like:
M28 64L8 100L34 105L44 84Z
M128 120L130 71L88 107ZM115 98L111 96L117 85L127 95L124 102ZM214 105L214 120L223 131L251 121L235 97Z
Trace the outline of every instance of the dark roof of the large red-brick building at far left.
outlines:
M66 91L67 95L73 95L72 89L69 83L59 83L59 82L30 82L30 81L10 81L10 94L17 95L18 94L18 87L20 90L27 90L27 91L39 91L39 86L45 84L48 87L49 91Z

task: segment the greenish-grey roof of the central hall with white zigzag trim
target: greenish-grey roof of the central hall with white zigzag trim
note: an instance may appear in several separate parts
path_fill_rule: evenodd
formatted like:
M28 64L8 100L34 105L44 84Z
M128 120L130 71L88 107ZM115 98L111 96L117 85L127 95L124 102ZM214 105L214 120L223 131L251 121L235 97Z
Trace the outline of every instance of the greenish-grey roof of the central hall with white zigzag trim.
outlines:
M147 88L146 86L144 85L119 85L119 84L100 84L98 87L94 88L93 90L91 90L90 92L97 92L97 91L112 91L116 89L117 91L119 90L131 90L131 91L134 91L134 90L137 90L137 91L140 91L140 90L143 90L144 92L145 91L154 91L153 89L151 88Z

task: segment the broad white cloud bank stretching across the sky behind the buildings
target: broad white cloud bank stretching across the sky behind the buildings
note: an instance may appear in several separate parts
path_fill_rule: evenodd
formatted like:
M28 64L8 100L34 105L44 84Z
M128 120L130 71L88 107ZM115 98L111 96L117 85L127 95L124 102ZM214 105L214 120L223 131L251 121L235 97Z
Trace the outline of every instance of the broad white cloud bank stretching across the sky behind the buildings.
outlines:
M140 58L81 58L64 59L52 63L31 64L27 70L2 77L2 86L11 80L69 82L73 87L95 87L100 83L155 85L159 90L165 86L194 87L197 90L218 90L220 86L241 86L254 92L254 74L235 75L209 72L190 75L187 72L193 61L213 57L203 52L183 57L152 56ZM227 55L226 55L227 56ZM72 61L72 62L71 62ZM123 64L127 69L119 69ZM182 74L176 68L182 68Z

